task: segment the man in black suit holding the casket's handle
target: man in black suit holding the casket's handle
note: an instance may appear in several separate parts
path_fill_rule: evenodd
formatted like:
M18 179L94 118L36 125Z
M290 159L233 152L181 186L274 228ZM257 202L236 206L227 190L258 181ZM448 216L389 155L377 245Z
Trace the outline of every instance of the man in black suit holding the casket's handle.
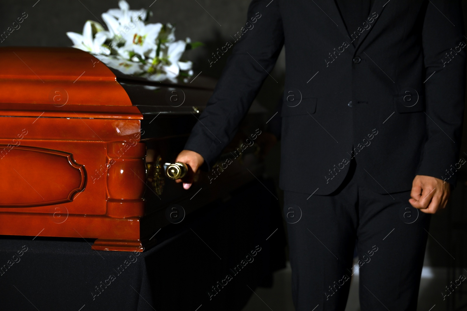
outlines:
M298 311L344 310L355 240L361 310L416 310L430 216L459 162L461 11L455 0L251 2L255 27L177 161L211 169L285 44L280 187Z

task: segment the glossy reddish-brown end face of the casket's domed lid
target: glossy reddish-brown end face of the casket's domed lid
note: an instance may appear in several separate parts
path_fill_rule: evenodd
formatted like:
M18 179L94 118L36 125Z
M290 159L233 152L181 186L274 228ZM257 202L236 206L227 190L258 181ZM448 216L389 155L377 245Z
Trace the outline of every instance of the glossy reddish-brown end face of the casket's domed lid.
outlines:
M76 48L0 48L0 114L141 119L115 75Z

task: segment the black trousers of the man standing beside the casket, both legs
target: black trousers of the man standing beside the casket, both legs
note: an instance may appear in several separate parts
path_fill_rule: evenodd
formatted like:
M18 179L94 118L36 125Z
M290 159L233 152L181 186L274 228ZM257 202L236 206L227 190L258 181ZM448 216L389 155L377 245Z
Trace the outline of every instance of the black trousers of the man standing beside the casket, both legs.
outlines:
M362 187L365 171L352 165L331 195L284 193L295 308L345 309L356 241L361 311L415 311L431 215L410 205L410 191Z

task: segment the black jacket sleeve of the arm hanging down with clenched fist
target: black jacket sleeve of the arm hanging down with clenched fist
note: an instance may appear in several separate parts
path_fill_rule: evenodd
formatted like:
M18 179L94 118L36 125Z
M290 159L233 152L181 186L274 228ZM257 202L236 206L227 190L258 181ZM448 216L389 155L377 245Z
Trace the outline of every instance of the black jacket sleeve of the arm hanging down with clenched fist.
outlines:
M450 177L446 170L451 172L459 162L464 117L467 47L462 8L459 0L427 3L422 29L427 140L417 175L433 176L455 186L455 176Z

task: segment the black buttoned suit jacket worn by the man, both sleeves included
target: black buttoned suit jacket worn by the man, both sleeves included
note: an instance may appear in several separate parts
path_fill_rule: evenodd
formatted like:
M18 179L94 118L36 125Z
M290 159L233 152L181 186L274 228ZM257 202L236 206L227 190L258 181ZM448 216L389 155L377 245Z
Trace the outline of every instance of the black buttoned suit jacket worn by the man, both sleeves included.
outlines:
M330 194L351 158L379 193L410 190L416 174L454 184L467 48L459 1L375 0L347 31L334 1L253 0L248 22L185 145L209 168L285 44L282 189Z

